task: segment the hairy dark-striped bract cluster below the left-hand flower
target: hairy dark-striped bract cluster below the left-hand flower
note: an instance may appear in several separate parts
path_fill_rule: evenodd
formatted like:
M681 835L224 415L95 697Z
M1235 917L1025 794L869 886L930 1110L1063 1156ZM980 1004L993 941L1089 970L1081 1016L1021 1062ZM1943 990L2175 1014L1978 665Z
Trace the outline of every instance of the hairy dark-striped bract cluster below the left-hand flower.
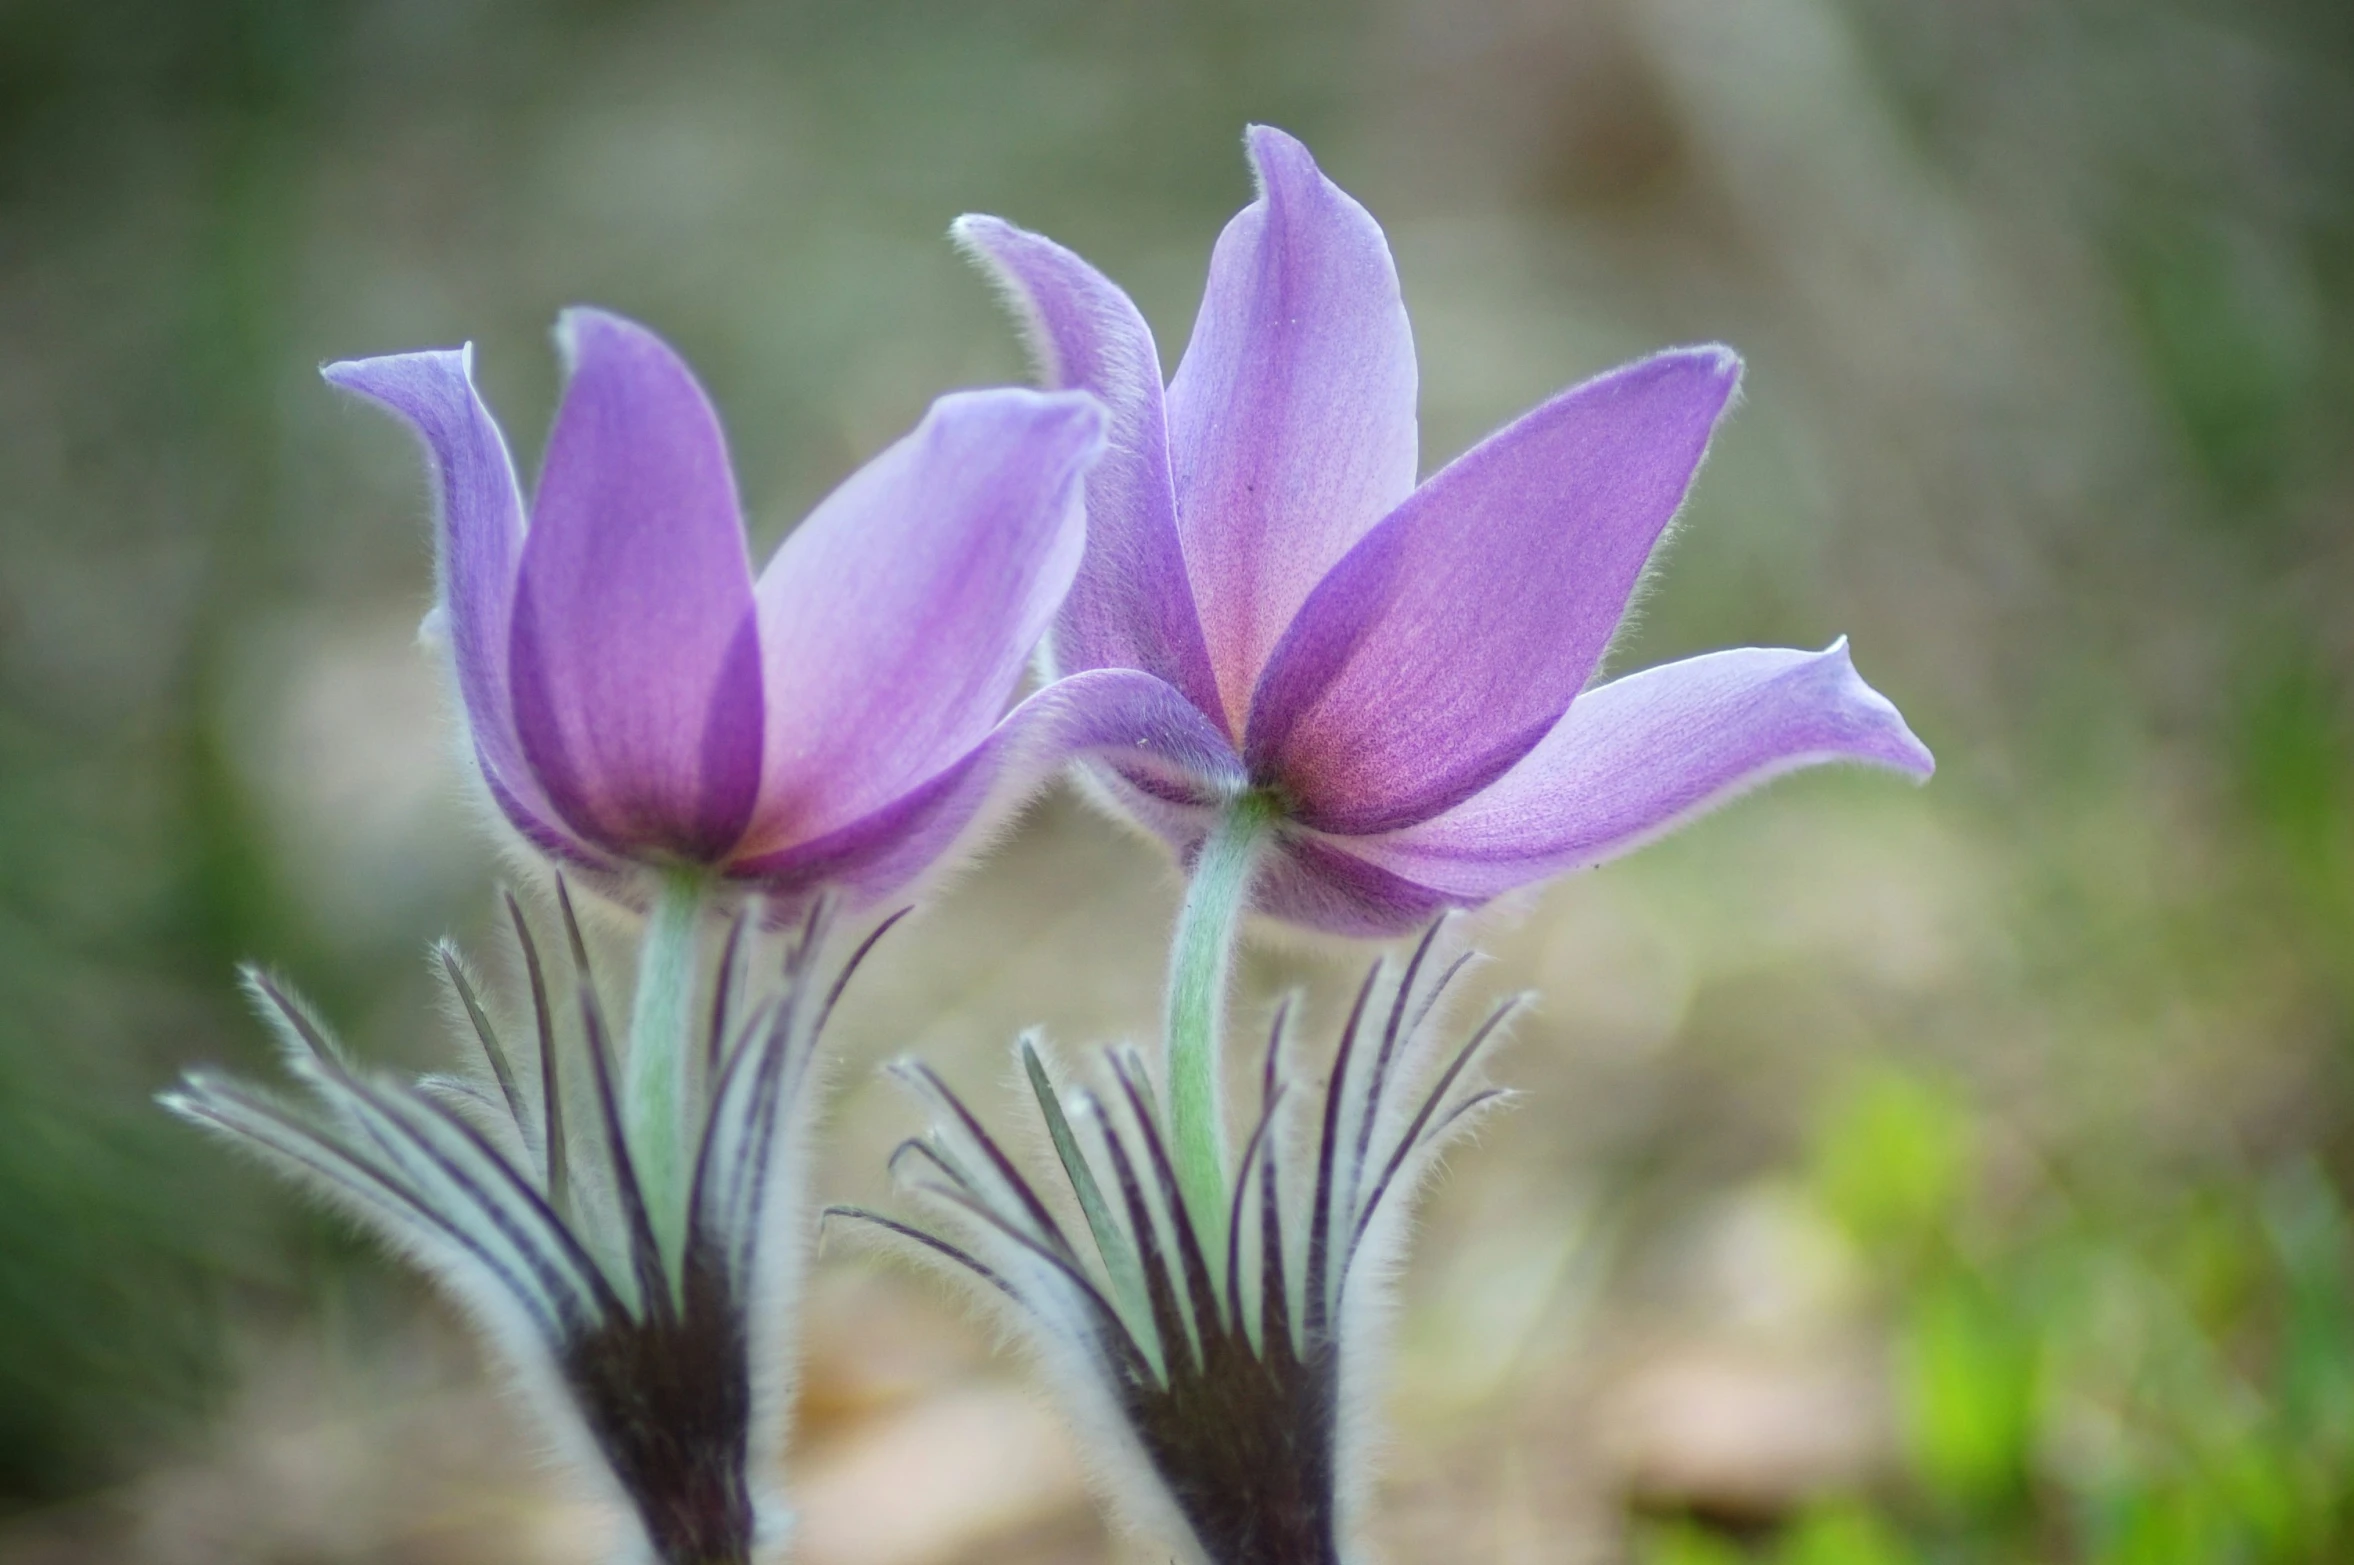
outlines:
M749 1563L786 1525L767 1473L782 1457L786 1337L810 1240L812 1059L880 930L826 981L824 906L774 963L760 958L772 941L756 920L734 920L694 1066L690 1205L666 1247L563 885L556 901L570 984L551 981L530 920L506 899L537 1047L506 1045L447 944L435 965L471 1059L417 1080L358 1066L278 979L247 972L308 1099L198 1071L165 1104L259 1151L433 1273L518 1370L558 1450L636 1513L650 1558Z

